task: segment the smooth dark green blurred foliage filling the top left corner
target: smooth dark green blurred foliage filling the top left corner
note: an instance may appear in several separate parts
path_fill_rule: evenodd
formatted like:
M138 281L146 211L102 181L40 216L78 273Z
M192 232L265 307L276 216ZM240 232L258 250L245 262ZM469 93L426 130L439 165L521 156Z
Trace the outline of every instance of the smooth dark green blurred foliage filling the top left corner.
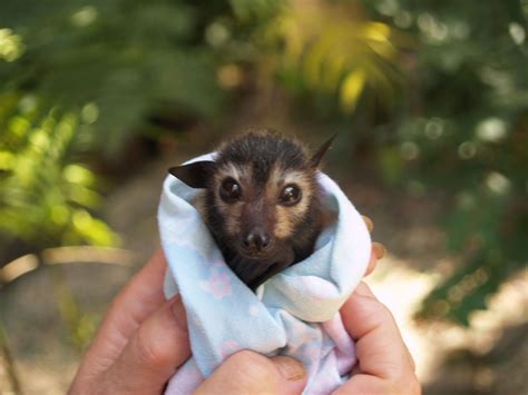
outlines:
M197 117L219 110L216 55L204 29L228 4L6 0L1 8L3 88L66 110L92 103L94 144L107 154L130 131L156 135L149 116L166 108Z

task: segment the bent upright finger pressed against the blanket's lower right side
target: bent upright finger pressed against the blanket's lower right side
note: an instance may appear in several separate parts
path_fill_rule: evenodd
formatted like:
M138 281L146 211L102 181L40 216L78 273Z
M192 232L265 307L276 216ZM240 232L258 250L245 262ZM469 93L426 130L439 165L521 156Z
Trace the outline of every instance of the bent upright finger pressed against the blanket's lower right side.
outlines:
M356 340L355 350L363 374L391 381L399 379L402 374L413 375L409 350L392 314L366 284L358 286L341 308L341 315L346 330Z

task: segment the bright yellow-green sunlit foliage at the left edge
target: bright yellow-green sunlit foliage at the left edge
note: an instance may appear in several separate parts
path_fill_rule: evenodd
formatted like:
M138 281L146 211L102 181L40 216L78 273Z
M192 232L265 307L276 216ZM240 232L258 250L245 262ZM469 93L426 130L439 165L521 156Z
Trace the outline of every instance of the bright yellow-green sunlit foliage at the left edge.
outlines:
M118 236L89 211L100 204L94 174L72 160L84 138L79 116L57 109L39 116L31 97L1 99L0 234L37 248L116 244Z

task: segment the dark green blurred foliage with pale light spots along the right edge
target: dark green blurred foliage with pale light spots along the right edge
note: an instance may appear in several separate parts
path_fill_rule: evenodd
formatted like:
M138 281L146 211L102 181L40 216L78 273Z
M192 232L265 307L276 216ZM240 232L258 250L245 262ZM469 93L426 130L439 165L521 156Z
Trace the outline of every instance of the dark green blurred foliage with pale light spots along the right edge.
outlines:
M398 169L389 181L410 194L443 196L441 223L460 256L420 316L468 324L528 263L528 2L380 0L368 7L420 41L403 65L405 106L378 129L395 130L380 164Z

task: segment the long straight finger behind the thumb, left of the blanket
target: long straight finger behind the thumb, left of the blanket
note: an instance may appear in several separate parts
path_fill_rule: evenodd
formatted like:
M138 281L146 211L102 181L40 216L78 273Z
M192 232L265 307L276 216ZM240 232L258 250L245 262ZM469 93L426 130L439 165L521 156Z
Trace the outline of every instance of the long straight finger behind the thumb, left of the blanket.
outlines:
M165 303L163 279L166 267L165 256L159 249L116 296L86 353L85 364L97 357L106 361L100 368L108 368L140 323Z

